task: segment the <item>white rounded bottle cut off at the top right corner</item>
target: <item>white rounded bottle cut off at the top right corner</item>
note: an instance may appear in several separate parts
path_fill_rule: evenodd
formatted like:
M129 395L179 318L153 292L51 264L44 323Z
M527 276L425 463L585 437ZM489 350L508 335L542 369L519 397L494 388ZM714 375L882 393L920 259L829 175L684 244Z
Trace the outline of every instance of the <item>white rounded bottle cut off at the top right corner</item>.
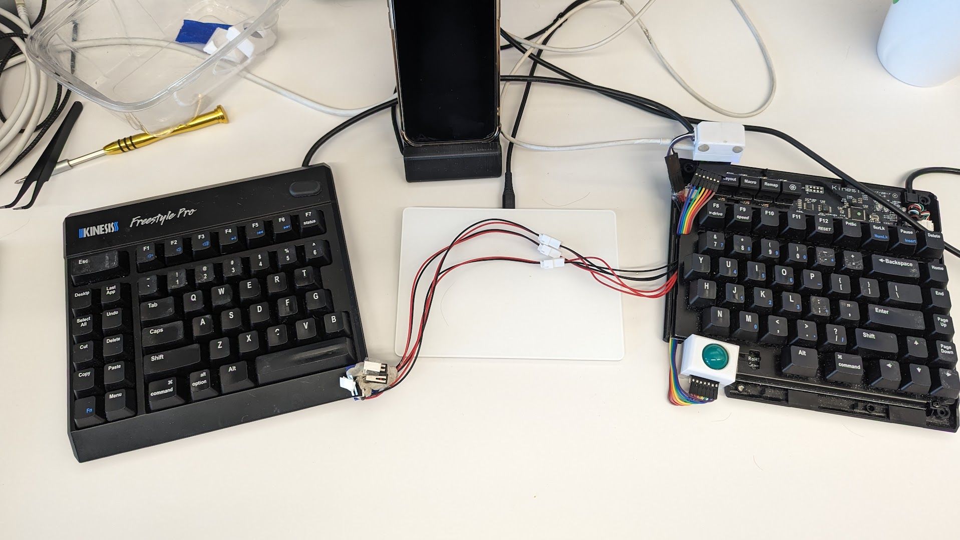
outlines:
M960 75L960 0L893 0L876 55L891 75L915 86Z

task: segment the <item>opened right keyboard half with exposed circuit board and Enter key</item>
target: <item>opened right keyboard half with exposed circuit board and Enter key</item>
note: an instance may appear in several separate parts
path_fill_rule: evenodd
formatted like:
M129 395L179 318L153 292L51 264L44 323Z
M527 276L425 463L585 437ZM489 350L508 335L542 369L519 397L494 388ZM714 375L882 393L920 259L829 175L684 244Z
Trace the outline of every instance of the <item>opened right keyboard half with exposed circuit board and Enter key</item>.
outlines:
M720 188L694 232L671 239L681 279L664 337L739 345L727 396L957 431L939 232L825 177L690 160L676 173ZM869 187L901 208L921 204L939 230L932 194Z

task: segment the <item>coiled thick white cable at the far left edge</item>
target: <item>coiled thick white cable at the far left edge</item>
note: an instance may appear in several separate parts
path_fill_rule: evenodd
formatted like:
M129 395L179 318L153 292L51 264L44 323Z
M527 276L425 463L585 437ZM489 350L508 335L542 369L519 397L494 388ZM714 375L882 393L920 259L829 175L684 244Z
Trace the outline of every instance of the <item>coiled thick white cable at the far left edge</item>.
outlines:
M16 2L17 14L0 9L0 16L9 19L17 28L11 29L6 24L0 24L0 32L4 34L30 34L30 16L21 0ZM11 41L26 56L27 44L20 37L12 37ZM19 62L17 62L19 63ZM0 153L6 153L0 160L0 172L6 171L16 157L23 152L34 137L34 130L40 123L45 112L47 99L47 78L43 76L33 62L27 62L27 73L23 77L23 87L16 100L16 106L0 128ZM22 132L21 132L22 129Z

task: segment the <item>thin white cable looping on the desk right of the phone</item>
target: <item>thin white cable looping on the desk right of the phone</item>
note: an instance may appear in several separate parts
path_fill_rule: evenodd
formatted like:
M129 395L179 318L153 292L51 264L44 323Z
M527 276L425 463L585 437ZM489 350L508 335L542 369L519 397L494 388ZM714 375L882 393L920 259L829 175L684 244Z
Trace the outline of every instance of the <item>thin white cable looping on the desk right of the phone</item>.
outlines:
M604 0L597 0L597 1L604 1ZM718 112L720 114L723 114L725 116L730 116L732 118L750 118L752 116L756 116L757 114L763 112L764 110L767 109L768 106L770 106L771 103L773 103L774 96L777 94L777 72L774 69L773 59L770 57L770 52L767 50L766 43L763 42L763 38L760 36L759 31L756 30L754 21L751 20L750 16L747 14L747 12L743 9L743 6L741 6L737 0L730 0L730 1L733 4L733 8L736 9L736 11L740 14L740 17L743 19L743 22L747 25L747 28L750 29L751 34L754 35L754 39L756 39L756 45L760 49L760 54L763 55L763 61L766 64L767 73L770 76L770 92L767 94L767 97L763 101L763 103L760 106L756 107L754 110L751 110L750 112L736 112L736 111L728 110L721 106L717 106L713 104L703 95L701 95L699 92L694 90L693 87L690 86L688 82L684 81L684 78L677 72L676 69L674 69L674 67L670 64L670 62L667 61L666 57L663 56L663 53L660 52L660 47L657 46L657 42L654 40L653 35L650 34L650 30L646 27L646 25L643 24L643 21L640 20L640 16L642 16L643 13L646 12L657 0L648 0L647 3L644 4L642 8L640 8L639 12L634 11L634 9L630 6L630 4L627 4L625 0L606 0L606 1L617 2L618 4L623 6L623 8L627 10L627 12L629 12L632 15L632 18L630 19L630 21L627 22L627 24L625 24L624 26L620 27L620 29L617 30L615 33L613 33L612 35L610 35L605 39L597 41L596 43L586 45L583 47L554 47L549 45L543 45L542 43L540 43L542 38L535 42L535 41L529 41L527 39L523 39L521 37L517 37L516 35L508 33L511 36L513 36L516 40L518 40L520 43L523 43L528 47L527 53L524 54L524 56L520 59L520 61L522 62L524 59L527 59L530 56L529 53L531 49L541 49L544 51L550 51L554 53L579 53L584 51L590 51L598 47L602 47L603 45L606 45L607 43L611 42L617 36L623 34L629 26L633 25L636 22L636 24L639 25L640 29L643 31L643 35L647 37L647 41L650 42L650 46L651 48L653 48L654 54L657 56L657 59L660 60L660 63L663 64L663 67L665 67L666 70L670 73L670 76L673 77L674 80L678 82L684 88L684 90L686 90L687 93L693 96L694 99L696 99L701 104L708 106L714 112ZM586 8L587 6L595 3L596 2L587 2L581 5L579 8ZM579 9L573 10L567 13L567 16L565 16L561 20L565 21L566 19L569 18L569 15L572 15L574 12L578 12L578 11ZM558 26L559 26L558 24L555 24L553 27L551 27L550 32L555 30ZM544 33L544 35L549 35L549 32Z

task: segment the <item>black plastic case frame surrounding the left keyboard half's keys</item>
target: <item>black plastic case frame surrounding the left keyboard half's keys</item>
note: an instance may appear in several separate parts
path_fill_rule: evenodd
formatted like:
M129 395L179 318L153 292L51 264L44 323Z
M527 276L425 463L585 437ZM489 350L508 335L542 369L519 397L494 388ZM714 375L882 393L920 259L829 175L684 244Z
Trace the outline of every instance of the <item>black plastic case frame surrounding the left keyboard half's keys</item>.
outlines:
M305 169L315 170L321 173L324 178L321 183L328 186L329 201L320 203L321 206L329 205L333 211L333 223L327 223L327 234L333 232L331 228L336 228L335 234L342 247L343 269L345 278L350 289L350 301L353 311L350 313L351 336L354 348L357 353L356 362L362 362L367 357L367 345L364 340L363 326L361 324L359 301L356 296L356 287L353 283L353 272L350 268L349 252L347 248L347 239L344 235L343 219L340 213L340 204L336 194L336 186L330 167L325 163L312 165L310 167L300 167L281 171L274 174L252 176L238 180L231 180L219 184L199 187L196 189L183 190L177 193L164 194L156 197L145 198L141 200L132 200L130 202L113 204L101 208L94 208L83 212L70 214L63 220L63 234L66 235L66 223L69 218L83 216L93 212L120 208L147 202L152 200L162 200L173 198L180 195L187 195L208 189L226 187L232 184L239 184L248 181L255 181L262 178L273 176L283 176L292 173L299 173ZM234 223L234 222L230 222ZM168 235L167 235L168 236ZM65 236L64 236L65 238ZM160 238L160 237L158 237ZM114 248L123 249L136 244L131 242L123 245L117 245ZM72 283L70 282L68 261L69 258L80 255L94 253L102 249L92 249L85 252L67 254L67 247L63 246L64 261L64 288L66 292L70 291ZM135 262L130 261L131 273L136 272ZM133 292L131 292L133 294ZM78 429L73 424L73 395L70 388L73 369L70 361L70 310L69 294L64 295L64 313L66 314L66 422L67 436L70 440L70 447L73 455L79 462L89 461L98 458L108 458L117 454L146 448L171 442L196 434L204 434L216 431L222 428L228 428L283 414L286 412L300 411L317 405L323 405L334 401L348 399L350 392L340 387L340 377L347 369L338 368L312 375L305 375L288 381L272 383L262 387L252 387L247 390L241 390L229 394L217 396L216 398L204 401L186 403L178 407L165 409L162 411L151 411L149 413L137 414L131 418L118 420L114 422L105 422L103 424L88 428ZM132 299L133 302L133 299ZM135 353L134 353L135 354ZM140 376L139 369L137 376ZM142 401L144 396L137 396L138 401ZM203 414L197 414L199 408L204 409Z

